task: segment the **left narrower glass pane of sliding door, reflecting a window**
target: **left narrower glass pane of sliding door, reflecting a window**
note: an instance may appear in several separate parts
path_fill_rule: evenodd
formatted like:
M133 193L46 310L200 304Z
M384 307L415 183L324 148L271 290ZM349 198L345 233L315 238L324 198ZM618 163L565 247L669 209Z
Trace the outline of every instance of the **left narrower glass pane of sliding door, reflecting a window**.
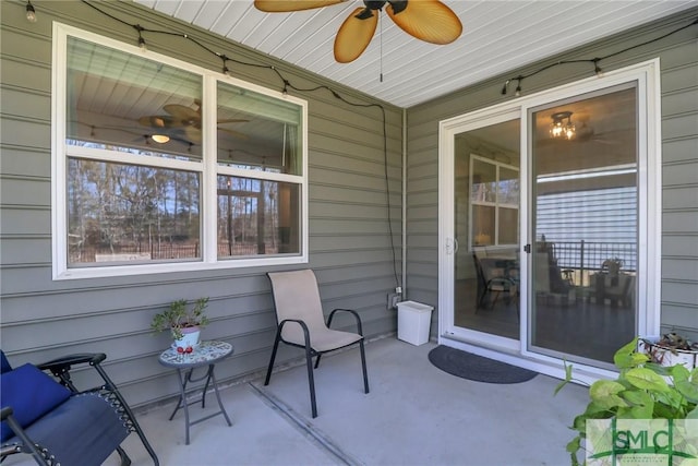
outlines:
M519 338L520 120L455 135L454 325Z

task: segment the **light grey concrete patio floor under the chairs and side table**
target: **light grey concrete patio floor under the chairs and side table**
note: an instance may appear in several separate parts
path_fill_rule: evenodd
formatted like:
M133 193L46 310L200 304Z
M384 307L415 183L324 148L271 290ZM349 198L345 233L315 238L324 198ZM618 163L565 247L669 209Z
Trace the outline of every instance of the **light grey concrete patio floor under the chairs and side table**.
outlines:
M358 350L324 357L315 419L304 366L275 373L266 387L253 380L222 389L232 426L222 416L192 426L190 445L183 413L168 420L173 403L136 415L164 466L569 464L567 426L586 407L585 387L553 396L558 381L542 374L518 384L460 379L430 363L435 346L369 343L368 395ZM215 407L212 394L205 411ZM197 419L201 406L190 413ZM152 464L135 434L123 446L134 465ZM106 464L118 465L116 454Z

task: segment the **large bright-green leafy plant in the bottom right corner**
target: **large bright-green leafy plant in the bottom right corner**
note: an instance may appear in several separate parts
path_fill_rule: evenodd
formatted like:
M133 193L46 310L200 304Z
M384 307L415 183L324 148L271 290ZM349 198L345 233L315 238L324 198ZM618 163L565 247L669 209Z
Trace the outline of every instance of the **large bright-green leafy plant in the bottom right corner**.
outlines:
M570 429L577 435L567 444L573 465L579 465L577 453L580 449L594 446L598 441L588 435L587 421L610 419L612 422L625 420L676 420L698 419L698 369L689 370L683 365L660 366L651 361L646 353L638 351L635 338L616 351L613 361L618 369L615 380L598 380L589 386L591 401L586 410L575 417ZM559 392L569 382L585 384L573 378L571 365L565 363L565 380L555 389ZM698 444L698 433L688 441L688 447ZM582 441L586 442L582 445ZM591 444L589 442L592 442ZM615 445L614 445L615 447ZM696 450L695 454L698 454Z

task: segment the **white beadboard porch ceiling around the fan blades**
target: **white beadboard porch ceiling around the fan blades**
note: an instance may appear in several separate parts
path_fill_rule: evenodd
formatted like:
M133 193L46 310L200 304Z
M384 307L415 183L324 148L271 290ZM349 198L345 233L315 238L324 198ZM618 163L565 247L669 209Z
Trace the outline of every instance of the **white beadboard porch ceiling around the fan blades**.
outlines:
M293 13L263 13L252 0L134 1L406 108L501 73L515 76L527 63L696 5L695 0L445 0L464 25L456 41L418 40L382 12L363 55L342 64L334 59L335 34L361 1Z

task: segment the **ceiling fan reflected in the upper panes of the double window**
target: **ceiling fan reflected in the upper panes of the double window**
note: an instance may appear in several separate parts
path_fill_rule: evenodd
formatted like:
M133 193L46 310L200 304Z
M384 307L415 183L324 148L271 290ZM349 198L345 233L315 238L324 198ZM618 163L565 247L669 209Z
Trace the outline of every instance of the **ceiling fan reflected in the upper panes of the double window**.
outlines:
M196 108L191 108L180 104L168 104L163 109L168 115L152 115L139 118L139 123L144 127L149 127L156 130L182 130L188 141L193 143L201 143L201 101L194 100ZM250 120L244 119L225 119L218 120L218 124L225 123L242 123ZM229 130L227 128L218 128L218 131L224 131L233 138L248 139L245 134L238 131Z

